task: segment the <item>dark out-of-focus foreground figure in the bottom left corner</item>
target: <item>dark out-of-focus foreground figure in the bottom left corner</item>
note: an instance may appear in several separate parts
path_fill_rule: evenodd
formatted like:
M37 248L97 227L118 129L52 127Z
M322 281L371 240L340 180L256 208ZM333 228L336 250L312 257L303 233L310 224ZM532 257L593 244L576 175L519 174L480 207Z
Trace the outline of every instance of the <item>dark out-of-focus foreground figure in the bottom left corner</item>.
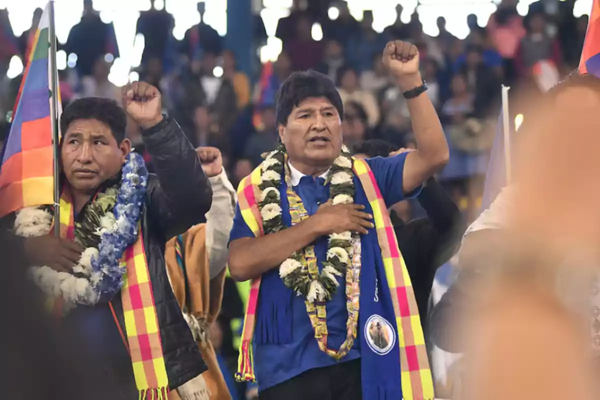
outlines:
M7 399L113 399L115 386L98 383L96 366L85 344L64 330L43 307L44 296L28 279L23 239L0 230L2 282L0 369L2 397ZM73 377L77 377L74 379Z

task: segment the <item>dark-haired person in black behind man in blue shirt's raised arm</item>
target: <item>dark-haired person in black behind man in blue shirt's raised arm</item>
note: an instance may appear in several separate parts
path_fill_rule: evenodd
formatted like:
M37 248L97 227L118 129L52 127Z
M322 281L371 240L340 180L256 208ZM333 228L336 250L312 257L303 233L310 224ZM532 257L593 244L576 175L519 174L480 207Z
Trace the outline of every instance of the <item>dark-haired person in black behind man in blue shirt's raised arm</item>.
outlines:
M356 158L388 157L398 152L383 140L366 140L354 148ZM448 261L460 246L466 222L442 185L430 178L416 198L429 218L404 222L392 211L391 219L406 269L415 291L419 315L427 315L431 285L436 270ZM427 318L421 318L427 336Z

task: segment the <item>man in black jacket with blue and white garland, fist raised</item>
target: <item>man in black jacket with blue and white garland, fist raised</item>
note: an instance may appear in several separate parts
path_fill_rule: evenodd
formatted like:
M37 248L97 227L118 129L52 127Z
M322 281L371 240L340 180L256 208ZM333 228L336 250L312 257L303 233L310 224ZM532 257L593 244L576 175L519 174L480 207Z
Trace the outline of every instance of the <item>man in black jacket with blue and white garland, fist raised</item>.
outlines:
M156 88L134 82L122 101L121 108L83 98L64 110L61 237L50 233L45 206L19 210L15 232L25 237L26 263L53 297L61 326L85 340L98 384L118 389L112 399L166 397L169 389L176 398L179 387L184 400L203 399L206 365L169 286L163 251L170 237L204 221L211 187L179 125L161 114ZM142 127L157 175L131 153L127 116Z

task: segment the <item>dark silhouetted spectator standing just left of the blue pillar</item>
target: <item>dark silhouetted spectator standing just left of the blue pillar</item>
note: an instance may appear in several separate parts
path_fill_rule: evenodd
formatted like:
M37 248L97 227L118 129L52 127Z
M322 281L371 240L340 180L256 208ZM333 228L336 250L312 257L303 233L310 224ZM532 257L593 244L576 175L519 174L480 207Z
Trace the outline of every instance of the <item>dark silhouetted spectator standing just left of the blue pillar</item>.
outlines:
M181 52L190 60L202 58L205 52L217 55L223 51L223 38L212 26L204 22L205 2L199 1L197 9L200 13L200 23L185 31L184 40L181 42Z

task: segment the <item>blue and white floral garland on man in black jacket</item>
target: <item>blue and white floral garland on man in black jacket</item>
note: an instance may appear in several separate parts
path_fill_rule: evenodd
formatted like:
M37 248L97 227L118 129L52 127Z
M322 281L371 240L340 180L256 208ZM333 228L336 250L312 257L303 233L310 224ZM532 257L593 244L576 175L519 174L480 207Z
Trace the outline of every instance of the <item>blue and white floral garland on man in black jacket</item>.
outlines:
M148 171L142 156L128 155L121 170L120 187L99 193L75 226L75 240L84 248L74 274L48 266L32 267L34 282L49 296L62 297L67 305L94 305L121 290L125 265L120 258L137 239L138 221L146 196ZM53 213L48 207L26 207L17 212L19 236L48 234Z

